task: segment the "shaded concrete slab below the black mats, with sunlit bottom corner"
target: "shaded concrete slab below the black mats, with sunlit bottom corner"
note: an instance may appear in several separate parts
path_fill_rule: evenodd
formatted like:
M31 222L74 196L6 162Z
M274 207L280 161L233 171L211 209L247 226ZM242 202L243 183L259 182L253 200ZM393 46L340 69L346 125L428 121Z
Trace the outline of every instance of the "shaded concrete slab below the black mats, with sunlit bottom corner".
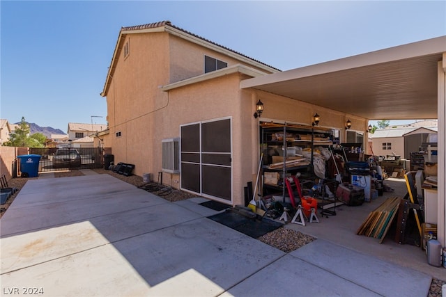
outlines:
M220 289L202 294L221 294L285 255L208 218L119 241L114 246L151 287L171 287L172 296L200 294L203 278ZM178 282L178 275L190 271L200 278ZM186 288L191 291L185 291Z

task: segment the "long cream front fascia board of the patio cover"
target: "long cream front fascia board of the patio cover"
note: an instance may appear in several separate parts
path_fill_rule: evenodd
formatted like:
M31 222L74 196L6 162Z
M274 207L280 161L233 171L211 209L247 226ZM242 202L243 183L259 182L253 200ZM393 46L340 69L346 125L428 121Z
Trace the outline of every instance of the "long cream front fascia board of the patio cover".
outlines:
M406 58L415 58L417 56L441 54L444 52L446 52L446 36L440 36L438 38L413 42L407 45L399 45L388 49L371 51L366 54L359 54L356 56L350 56L338 60L278 72L275 74L270 74L266 77L247 79L240 83L240 88L255 88L256 86L269 83L300 79L302 77L312 77L319 74L399 61Z

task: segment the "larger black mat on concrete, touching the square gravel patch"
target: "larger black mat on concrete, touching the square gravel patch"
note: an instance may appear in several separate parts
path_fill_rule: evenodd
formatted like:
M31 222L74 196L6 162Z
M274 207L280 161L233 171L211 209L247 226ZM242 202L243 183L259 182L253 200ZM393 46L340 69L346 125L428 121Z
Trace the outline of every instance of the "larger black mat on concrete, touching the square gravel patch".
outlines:
M211 220L242 232L252 238L258 238L268 232L274 231L282 227L282 223L275 222L268 218L252 219L238 214L236 211L224 211L221 214L208 216Z

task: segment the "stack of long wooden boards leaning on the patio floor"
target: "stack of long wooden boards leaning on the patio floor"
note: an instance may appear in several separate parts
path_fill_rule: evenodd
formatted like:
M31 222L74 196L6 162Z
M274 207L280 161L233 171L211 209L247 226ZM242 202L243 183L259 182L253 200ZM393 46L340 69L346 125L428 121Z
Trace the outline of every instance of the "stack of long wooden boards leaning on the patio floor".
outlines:
M380 204L367 216L356 234L381 239L380 243L383 242L385 234L397 214L400 200L401 198L398 197L387 198L383 204Z

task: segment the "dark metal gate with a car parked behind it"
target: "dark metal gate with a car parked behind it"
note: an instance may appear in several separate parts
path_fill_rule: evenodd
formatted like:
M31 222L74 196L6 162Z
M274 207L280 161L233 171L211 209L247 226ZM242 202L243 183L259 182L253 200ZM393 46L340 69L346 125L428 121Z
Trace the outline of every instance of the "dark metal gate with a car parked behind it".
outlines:
M29 153L41 156L39 172L104 166L104 149L101 147L30 148Z

